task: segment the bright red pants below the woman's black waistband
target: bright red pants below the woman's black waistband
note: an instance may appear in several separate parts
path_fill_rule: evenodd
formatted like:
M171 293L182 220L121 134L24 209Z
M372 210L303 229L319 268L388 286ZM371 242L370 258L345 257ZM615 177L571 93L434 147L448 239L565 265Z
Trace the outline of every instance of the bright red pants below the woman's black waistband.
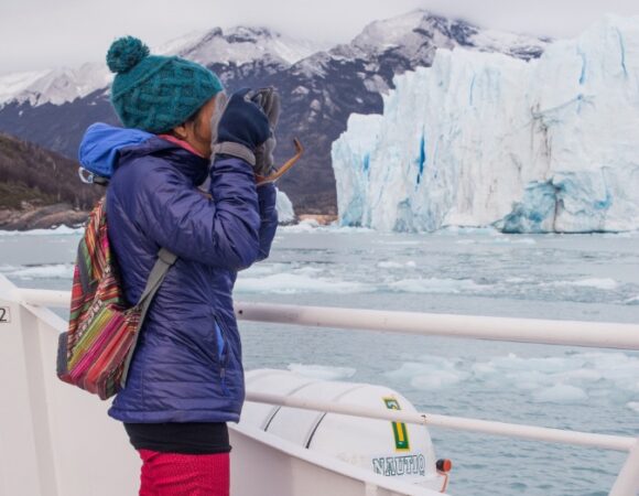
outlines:
M229 454L189 455L139 450L140 496L229 496Z

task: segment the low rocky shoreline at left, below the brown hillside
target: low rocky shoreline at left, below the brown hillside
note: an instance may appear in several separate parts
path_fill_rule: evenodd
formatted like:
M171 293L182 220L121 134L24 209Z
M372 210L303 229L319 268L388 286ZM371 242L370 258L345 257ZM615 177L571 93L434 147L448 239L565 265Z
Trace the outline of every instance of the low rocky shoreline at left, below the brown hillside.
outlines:
M23 205L21 209L0 209L1 230L52 229L58 226L82 227L89 213L68 203L46 206Z

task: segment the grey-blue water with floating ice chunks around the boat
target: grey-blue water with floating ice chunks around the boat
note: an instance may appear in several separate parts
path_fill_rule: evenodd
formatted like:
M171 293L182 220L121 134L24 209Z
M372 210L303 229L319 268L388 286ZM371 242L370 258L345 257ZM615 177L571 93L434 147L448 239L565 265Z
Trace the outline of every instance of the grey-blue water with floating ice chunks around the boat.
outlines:
M0 235L0 272L69 289L77 234ZM236 299L435 313L639 321L639 236L281 229ZM419 410L639 435L639 354L242 323L247 368L383 384ZM607 494L621 453L432 429L452 494Z

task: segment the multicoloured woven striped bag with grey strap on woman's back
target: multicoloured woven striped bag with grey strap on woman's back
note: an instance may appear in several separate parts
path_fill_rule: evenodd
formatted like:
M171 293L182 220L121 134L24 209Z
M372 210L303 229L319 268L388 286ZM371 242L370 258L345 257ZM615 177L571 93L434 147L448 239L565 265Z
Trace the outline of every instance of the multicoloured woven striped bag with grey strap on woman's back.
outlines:
M161 249L140 301L128 305L107 237L106 198L98 202L78 246L68 331L57 348L59 379L102 400L124 387L147 310L175 258Z

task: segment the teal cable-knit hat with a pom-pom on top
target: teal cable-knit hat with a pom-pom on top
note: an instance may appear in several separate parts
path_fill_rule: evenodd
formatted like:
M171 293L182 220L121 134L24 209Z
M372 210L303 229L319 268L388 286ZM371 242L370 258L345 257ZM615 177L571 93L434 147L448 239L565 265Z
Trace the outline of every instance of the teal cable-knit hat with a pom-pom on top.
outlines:
M184 123L223 89L206 67L180 57L149 55L149 47L133 36L113 42L107 65L117 73L111 104L124 127L156 134Z

